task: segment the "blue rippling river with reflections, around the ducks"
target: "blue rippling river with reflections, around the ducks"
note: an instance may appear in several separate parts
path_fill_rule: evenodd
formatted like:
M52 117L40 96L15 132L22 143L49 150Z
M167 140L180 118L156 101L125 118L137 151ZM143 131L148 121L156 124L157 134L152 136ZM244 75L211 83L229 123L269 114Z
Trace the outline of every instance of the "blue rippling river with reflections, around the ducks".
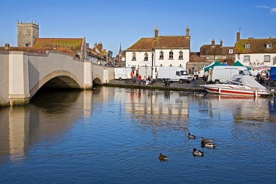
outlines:
M217 146L202 148L201 137ZM0 183L274 184L275 137L275 97L39 91L0 109Z

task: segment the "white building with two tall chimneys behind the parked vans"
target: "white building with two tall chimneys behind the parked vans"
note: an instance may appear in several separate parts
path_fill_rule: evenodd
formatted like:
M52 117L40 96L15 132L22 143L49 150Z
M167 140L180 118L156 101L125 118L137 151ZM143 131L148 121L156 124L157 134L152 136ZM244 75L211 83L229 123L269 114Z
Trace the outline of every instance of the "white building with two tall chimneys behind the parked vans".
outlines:
M126 50L126 67L152 66L153 63L153 66L186 68L190 56L189 31L187 26L186 36L158 36L156 26L154 38L141 38Z

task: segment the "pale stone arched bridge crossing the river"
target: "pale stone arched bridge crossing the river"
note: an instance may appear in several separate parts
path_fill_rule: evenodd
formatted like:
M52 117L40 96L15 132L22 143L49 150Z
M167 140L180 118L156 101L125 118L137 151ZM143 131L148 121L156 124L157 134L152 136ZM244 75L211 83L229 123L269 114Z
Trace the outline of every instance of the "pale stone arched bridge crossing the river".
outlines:
M55 51L0 51L0 106L24 105L42 86L91 89L114 79L114 68Z

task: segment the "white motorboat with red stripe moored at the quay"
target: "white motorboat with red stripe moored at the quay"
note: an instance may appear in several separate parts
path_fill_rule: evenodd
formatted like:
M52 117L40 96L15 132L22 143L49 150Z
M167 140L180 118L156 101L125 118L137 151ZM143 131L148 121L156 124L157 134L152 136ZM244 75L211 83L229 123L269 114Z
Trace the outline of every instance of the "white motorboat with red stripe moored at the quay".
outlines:
M262 86L248 75L234 75L230 81L223 84L205 84L200 86L203 87L208 93L223 95L272 95L266 87Z

